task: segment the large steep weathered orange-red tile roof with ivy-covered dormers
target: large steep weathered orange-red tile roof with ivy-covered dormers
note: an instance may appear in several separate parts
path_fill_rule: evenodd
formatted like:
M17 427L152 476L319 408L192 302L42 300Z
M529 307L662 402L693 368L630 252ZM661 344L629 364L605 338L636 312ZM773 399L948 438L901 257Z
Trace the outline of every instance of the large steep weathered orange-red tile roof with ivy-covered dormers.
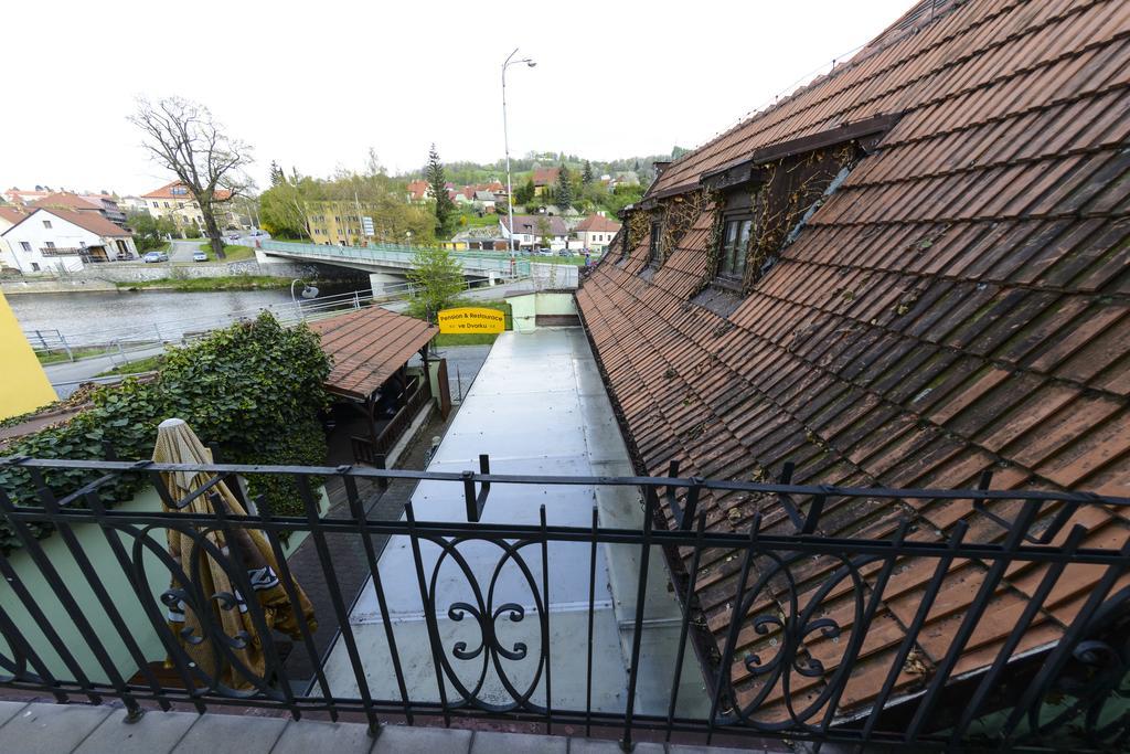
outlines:
M732 297L728 317L703 297L713 205L658 270L642 224L626 258L614 250L584 281L577 302L643 470L663 475L678 460L680 476L767 480L792 462L802 484L942 488L975 486L993 470L994 488L1130 492L1130 6L983 0L939 3L928 18L916 31L915 19L896 24L671 164L649 190L645 201L686 193L759 148L901 113L776 265ZM889 536L912 517L919 538L953 531L959 518L968 540L1005 536L968 505L905 503L826 514L819 534ZM772 501L719 494L701 505L714 530L744 531L759 510L764 528L792 531ZM1121 513L1086 517L1074 519L1089 527L1086 543L1127 540ZM736 592L730 560L704 558L696 582L695 608L719 649ZM843 707L878 693L936 563L898 569ZM808 575L834 566L814 562ZM1014 657L1062 635L1096 571L1067 567ZM925 666L939 661L985 572L955 564L944 607L920 634ZM955 673L992 661L1043 573L1028 564L1006 575ZM739 641L744 658L768 635L745 625ZM829 638L806 645L826 673L799 678L800 696L823 687L838 657ZM748 700L744 661L731 676ZM897 688L914 683L906 673ZM779 693L766 716L784 717L774 704Z

